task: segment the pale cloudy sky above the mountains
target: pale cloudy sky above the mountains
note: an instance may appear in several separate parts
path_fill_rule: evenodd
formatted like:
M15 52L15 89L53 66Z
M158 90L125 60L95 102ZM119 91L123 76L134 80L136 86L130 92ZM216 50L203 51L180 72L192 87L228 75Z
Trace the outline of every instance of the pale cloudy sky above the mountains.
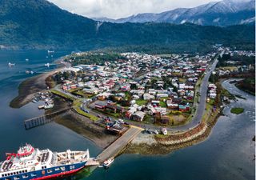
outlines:
M124 18L139 13L160 13L219 0L48 0L89 18Z

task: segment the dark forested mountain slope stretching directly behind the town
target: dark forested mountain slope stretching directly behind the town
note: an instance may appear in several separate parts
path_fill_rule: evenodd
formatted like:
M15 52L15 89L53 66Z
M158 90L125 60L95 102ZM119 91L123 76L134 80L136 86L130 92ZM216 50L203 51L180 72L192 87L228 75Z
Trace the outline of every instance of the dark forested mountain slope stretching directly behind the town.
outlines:
M251 25L97 22L46 0L0 0L0 49L204 51L214 43L254 48Z

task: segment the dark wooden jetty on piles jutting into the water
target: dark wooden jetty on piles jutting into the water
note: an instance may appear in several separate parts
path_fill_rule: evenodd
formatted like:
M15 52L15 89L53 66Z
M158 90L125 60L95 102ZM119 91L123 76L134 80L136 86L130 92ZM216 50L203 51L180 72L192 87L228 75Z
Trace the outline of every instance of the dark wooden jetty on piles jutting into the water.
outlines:
M42 126L46 123L52 122L54 118L56 118L58 115L65 114L70 108L65 108L62 110L55 111L54 113L38 116L35 118L26 119L24 121L24 126L26 130L30 130L31 128Z

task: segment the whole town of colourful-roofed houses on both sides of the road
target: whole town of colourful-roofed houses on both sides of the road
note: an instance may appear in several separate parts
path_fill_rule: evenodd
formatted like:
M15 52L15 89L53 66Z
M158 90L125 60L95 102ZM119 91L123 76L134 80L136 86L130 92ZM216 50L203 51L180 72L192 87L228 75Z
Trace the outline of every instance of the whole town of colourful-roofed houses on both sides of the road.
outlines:
M57 85L50 92L71 100L78 114L102 123L106 130L116 134L123 134L127 130L126 125L131 124L141 126L149 134L166 135L171 127L186 125L193 118L202 118L205 110L217 110L218 87L212 81L213 76L221 77L254 68L251 64L237 66L240 62L226 61L228 66L209 72L221 52L225 52L222 57L254 56L251 51L230 50L222 46L215 46L215 51L206 55L75 53L65 58L65 62L74 66L52 76ZM98 57L100 60L95 63ZM101 60L106 58L110 60ZM218 60L218 64L222 62ZM230 68L230 64L236 65L235 68ZM210 83L206 79L206 84L202 85L206 74L210 76ZM206 97L202 97L200 102L201 95L204 96L201 89L205 88ZM54 106L47 96L45 101L46 106L38 106L39 109ZM203 101L207 103L205 107L202 106ZM203 109L201 115L196 114L199 108ZM198 123L201 121L197 119Z

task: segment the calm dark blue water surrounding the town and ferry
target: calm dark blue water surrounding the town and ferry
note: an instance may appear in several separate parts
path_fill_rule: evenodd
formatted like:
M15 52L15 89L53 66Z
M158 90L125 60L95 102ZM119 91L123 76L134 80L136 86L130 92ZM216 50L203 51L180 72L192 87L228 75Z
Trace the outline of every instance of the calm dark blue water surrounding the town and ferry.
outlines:
M53 58L46 58L46 51L0 51L0 158L6 152L14 152L18 146L30 142L34 146L50 150L85 150L90 149L91 156L97 155L101 149L82 136L50 123L32 130L25 130L22 124L26 118L32 118L43 111L30 103L21 109L12 109L9 102L18 94L18 84L31 74L25 70L44 72L44 66L54 58L69 54L56 52ZM30 61L26 62L25 59ZM9 68L8 62L16 66ZM54 68L54 66L50 66ZM210 137L196 146L175 151L162 156L143 156L138 154L122 154L115 159L109 170L96 169L89 177L82 173L67 179L111 179L111 180L210 180L210 179L254 179L254 97L238 90L229 82L223 82L234 94L241 94L246 100L239 99L226 106L224 114L218 119ZM245 108L243 114L230 114L230 108Z

